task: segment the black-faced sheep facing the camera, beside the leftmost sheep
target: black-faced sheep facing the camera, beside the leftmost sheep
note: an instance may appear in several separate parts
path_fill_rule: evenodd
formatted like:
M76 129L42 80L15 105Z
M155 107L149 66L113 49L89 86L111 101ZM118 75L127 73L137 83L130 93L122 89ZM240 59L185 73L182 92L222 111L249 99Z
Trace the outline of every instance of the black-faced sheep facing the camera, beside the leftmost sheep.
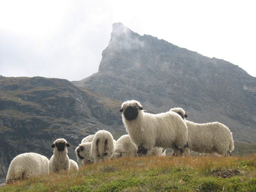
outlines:
M64 138L59 138L54 141L52 148L54 148L54 154L50 158L49 162L49 174L59 172L61 170L68 171L70 168L69 157L67 156L67 147L70 145Z

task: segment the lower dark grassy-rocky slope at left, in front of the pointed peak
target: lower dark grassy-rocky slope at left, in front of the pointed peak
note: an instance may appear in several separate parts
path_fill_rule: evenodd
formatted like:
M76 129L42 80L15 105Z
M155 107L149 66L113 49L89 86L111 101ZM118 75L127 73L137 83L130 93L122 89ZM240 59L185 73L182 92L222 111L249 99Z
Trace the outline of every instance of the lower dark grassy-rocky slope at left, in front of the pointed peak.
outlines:
M75 148L85 136L102 129L122 135L120 106L67 80L1 76L0 175L18 154L37 152L50 158L57 138L71 144L68 155L76 160Z

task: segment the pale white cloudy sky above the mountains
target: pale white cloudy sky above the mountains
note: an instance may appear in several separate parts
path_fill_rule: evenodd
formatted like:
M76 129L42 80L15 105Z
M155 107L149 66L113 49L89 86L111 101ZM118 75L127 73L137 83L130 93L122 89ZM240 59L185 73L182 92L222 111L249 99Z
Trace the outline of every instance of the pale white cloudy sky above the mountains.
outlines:
M99 69L112 24L256 76L254 0L0 0L0 75L82 80Z

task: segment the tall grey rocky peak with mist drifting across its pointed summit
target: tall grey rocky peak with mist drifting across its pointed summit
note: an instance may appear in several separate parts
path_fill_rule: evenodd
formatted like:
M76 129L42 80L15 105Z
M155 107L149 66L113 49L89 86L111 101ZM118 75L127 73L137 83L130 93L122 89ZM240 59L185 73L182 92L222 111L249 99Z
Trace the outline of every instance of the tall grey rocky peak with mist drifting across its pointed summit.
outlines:
M255 77L121 23L113 24L99 72L73 83L121 102L138 100L152 113L182 107L190 121L219 121L235 142L256 142Z

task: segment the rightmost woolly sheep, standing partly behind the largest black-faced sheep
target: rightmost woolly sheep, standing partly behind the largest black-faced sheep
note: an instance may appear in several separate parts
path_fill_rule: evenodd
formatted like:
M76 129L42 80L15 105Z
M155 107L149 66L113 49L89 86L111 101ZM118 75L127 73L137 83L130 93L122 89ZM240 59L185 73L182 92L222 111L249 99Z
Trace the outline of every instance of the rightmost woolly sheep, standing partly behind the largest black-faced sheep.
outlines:
M227 126L219 122L199 124L187 121L187 113L182 108L173 108L170 111L180 114L187 124L190 150L231 156L234 140Z

